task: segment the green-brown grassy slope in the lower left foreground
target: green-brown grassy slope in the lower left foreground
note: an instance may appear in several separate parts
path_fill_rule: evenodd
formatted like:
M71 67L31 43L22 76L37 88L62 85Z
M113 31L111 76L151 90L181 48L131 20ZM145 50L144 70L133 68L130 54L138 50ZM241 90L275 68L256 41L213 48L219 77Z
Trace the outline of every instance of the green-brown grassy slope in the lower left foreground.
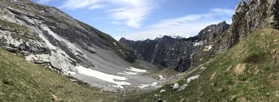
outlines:
M76 85L0 49L0 101L52 101L55 96L61 101L100 101L114 100L118 95Z

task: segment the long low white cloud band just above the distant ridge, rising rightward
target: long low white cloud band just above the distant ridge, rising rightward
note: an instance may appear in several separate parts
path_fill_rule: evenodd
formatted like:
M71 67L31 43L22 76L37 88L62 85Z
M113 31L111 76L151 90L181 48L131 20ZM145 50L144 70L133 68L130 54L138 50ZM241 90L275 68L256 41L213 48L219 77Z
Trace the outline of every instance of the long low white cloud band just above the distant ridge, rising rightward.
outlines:
M214 8L208 13L186 15L184 17L178 17L174 19L164 19L156 24L147 26L146 31L140 31L137 33L130 33L121 37L126 37L130 40L144 40L146 38L156 38L162 35L197 35L197 33L211 24L218 24L219 22L226 21L231 23L231 17L234 14L234 10ZM120 37L116 37L119 39Z

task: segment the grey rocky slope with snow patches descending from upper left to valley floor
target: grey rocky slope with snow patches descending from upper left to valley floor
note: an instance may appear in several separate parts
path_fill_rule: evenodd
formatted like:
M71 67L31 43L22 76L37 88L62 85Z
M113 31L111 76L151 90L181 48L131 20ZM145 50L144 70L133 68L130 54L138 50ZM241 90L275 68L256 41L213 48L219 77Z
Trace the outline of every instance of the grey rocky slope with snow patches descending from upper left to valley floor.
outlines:
M132 67L133 50L60 10L31 1L0 1L3 49L103 90L158 87ZM133 76L133 77L132 77Z

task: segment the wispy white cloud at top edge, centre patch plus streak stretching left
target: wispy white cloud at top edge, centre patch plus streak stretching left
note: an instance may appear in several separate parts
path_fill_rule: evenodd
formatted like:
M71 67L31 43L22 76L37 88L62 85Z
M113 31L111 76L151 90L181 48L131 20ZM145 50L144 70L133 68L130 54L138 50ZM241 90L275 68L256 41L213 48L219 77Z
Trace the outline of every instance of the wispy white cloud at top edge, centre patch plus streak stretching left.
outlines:
M67 0L60 8L75 10L88 8L90 10L107 8L107 16L114 23L131 28L142 27L144 19L156 8L154 0ZM117 22L117 23L115 23Z

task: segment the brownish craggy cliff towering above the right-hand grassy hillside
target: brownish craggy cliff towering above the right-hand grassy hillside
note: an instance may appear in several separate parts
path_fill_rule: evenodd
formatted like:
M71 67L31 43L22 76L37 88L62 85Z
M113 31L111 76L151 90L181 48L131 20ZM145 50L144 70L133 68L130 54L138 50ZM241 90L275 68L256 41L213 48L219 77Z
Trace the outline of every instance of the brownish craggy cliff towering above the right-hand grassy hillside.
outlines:
M232 24L225 33L209 40L197 51L194 56L193 66L197 66L227 51L240 40L257 28L279 28L279 1L277 0L241 0L232 17ZM211 46L210 51L204 51Z

